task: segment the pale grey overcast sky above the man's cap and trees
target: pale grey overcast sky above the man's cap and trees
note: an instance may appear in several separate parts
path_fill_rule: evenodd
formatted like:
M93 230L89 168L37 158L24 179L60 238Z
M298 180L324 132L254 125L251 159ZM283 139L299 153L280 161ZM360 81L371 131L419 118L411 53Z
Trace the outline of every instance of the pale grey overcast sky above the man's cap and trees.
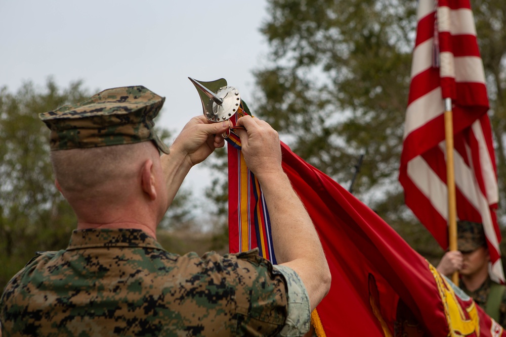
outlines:
M266 5L265 0L0 0L0 87L14 92L27 80L43 87L48 76L60 87L81 79L93 93L144 85L166 97L159 126L179 131L202 113L188 76L223 77L248 102L252 70L267 62L267 42L259 31ZM200 190L207 176L195 167L185 185Z

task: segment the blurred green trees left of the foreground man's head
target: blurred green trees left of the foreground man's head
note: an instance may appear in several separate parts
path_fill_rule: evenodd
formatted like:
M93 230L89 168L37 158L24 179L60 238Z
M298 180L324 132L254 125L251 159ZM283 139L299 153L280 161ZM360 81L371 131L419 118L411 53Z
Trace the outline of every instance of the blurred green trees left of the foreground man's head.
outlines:
M35 251L66 247L75 216L54 185L49 132L37 113L88 97L80 81L0 89L0 287Z

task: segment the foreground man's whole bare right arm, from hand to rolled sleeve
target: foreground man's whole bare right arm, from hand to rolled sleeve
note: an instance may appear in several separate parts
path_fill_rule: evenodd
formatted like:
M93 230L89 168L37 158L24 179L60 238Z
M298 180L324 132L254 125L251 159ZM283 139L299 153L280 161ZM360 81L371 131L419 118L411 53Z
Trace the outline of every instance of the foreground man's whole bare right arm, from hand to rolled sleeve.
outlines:
M256 175L269 209L276 258L296 271L308 291L311 310L327 294L330 271L313 222L281 167L278 133L250 116L237 122L248 168Z

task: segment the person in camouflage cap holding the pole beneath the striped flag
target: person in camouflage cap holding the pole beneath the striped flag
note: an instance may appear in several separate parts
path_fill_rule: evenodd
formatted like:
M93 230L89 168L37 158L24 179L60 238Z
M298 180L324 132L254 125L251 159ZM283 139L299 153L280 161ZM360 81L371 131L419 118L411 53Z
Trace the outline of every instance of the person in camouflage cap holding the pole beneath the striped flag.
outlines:
M506 287L492 281L490 255L481 223L457 222L458 251L446 252L437 270L447 276L458 271L460 288L495 321L506 327Z

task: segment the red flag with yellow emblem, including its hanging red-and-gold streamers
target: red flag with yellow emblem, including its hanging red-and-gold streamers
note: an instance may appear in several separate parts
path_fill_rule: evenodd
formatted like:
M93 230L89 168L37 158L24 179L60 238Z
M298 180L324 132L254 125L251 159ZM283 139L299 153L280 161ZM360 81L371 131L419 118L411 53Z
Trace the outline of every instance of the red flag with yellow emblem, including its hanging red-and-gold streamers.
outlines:
M270 223L268 216L255 215L255 205L268 213L262 191L243 166L237 137L231 137L229 231L234 253L240 245L242 250L254 248L254 238L262 242L258 238L269 236ZM433 336L502 335L502 327L367 206L284 144L282 154L283 169L315 224L332 274L330 292L312 314L318 336L416 336L420 331ZM251 195L249 202L245 194Z

